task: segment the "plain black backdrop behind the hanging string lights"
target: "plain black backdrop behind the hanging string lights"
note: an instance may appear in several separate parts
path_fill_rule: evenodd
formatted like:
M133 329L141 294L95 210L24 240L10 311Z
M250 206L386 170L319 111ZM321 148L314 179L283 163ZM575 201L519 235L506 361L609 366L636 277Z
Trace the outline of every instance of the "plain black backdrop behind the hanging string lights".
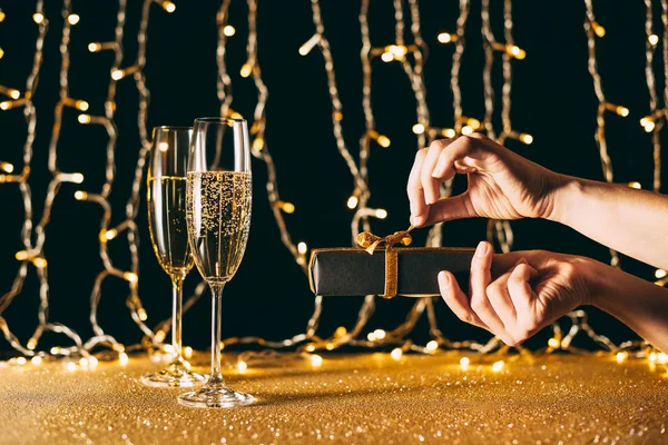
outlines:
M125 28L126 58L132 63L137 47L140 1L129 1ZM357 20L358 1L322 0L325 32L331 41L336 79L343 101L343 128L347 147L358 151L363 134L361 36ZM492 2L492 26L502 41L502 2ZM602 179L598 150L593 140L597 100L587 70L587 40L582 27L582 2L515 1L515 41L527 50L527 59L513 62L514 86L512 119L515 129L530 132L534 144L523 146L509 141L509 147L541 165L560 172ZM658 4L658 2L657 2ZM32 63L37 26L31 16L33 2L1 0L7 19L0 23L0 47L6 50L0 60L0 83L23 89ZM151 91L148 113L149 128L157 125L190 125L200 116L216 116L216 40L215 22L218 1L185 1L177 11L166 13L154 6L148 30L146 76ZM41 216L46 186L47 149L53 121L53 105L58 99L60 57L61 2L47 1L46 16L50 30L45 46L45 62L36 95L37 140L30 185L33 191L36 219ZM436 34L454 32L458 17L455 0L423 0L422 36L430 47L425 83L432 122L452 126L452 93L450 68L453 46L441 46ZM623 119L607 113L608 141L616 181L638 180L651 185L652 155L650 137L638 120L648 113L649 99L645 80L645 6L641 1L595 1L597 20L607 29L597 39L599 68L608 100L627 106L631 113ZM90 102L91 115L102 115L112 53L89 53L90 41L114 39L117 3L115 1L73 1L73 12L81 17L71 32L71 97ZM657 19L660 17L657 12ZM407 14L406 10L406 17ZM250 79L238 76L246 60L247 7L233 1L230 23L237 33L228 41L228 69L234 82L233 108L252 116L256 93ZM374 46L394 42L392 2L373 1L370 10L371 39ZM657 20L657 33L661 34ZM267 145L274 156L282 198L294 202L296 211L286 215L295 241L310 247L350 245L350 221L353 211L346 199L353 180L336 151L332 135L324 62L317 49L306 57L297 53L299 46L314 32L311 3L302 1L261 0L258 6L258 51L263 77L269 89L267 107ZM480 36L480 1L472 1L466 28L466 51L461 72L464 115L482 118L482 41ZM664 88L661 43L657 47L656 72L659 91ZM494 67L494 87L500 95L500 57ZM660 73L660 75L659 75ZM409 218L405 181L412 165L416 141L411 132L415 122L415 102L409 80L397 63L373 61L373 106L377 130L392 139L389 148L372 145L370 160L370 205L387 209L384 221L374 221L377 234L404 228ZM662 96L660 93L660 96ZM500 97L495 102L500 110ZM111 204L112 226L122 220L125 202L130 194L139 139L137 132L137 91L130 78L118 83L117 179ZM58 162L63 171L81 171L81 186L65 184L56 199L47 229L46 255L49 259L51 286L50 314L52 322L75 328L82 337L92 335L89 322L89 297L95 276L102 269L98 255L100 208L73 199L73 191L99 190L104 181L106 132L99 126L80 126L77 113L66 110ZM495 122L499 125L497 113ZM0 159L21 168L26 125L20 110L0 113ZM313 295L306 277L282 246L266 199L266 169L254 160L254 206L252 235L245 259L224 296L223 332L227 336L259 335L272 339L303 332L313 309ZM456 191L465 188L459 178ZM143 188L144 197L144 188ZM605 215L600 216L605 218ZM20 229L22 205L17 185L0 186L0 293L10 289L19 263L14 259L22 248ZM146 209L138 218L141 228L140 296L148 310L149 326L166 318L170 312L169 279L159 268L148 237ZM587 255L609 260L607 248L588 240L576 231L541 220L512 224L515 249L541 248L553 251ZM444 226L446 246L474 246L485 234L484 220L461 220ZM426 230L416 233L423 241ZM121 236L109 243L115 264L127 269L129 254ZM654 269L622 257L625 269L651 279ZM198 281L196 270L186 281L186 295ZM38 280L29 271L22 294L6 310L12 330L22 342L37 324ZM136 343L141 333L125 307L127 283L108 278L102 287L100 325L124 343ZM629 295L629 298L636 296ZM391 328L401 323L414 303L407 298L379 300L370 327ZM330 335L336 326L352 326L362 298L326 298L321 334ZM459 322L442 301L436 304L440 327L453 339L485 339L489 334ZM185 316L185 342L204 348L208 345L209 304L205 295ZM611 317L592 310L592 326L619 342L633 334ZM422 319L414 338L426 338ZM533 340L544 342L546 333ZM47 334L41 347L65 343L63 337ZM531 345L531 343L529 343ZM584 345L587 342L583 343ZM0 340L0 349L9 345Z

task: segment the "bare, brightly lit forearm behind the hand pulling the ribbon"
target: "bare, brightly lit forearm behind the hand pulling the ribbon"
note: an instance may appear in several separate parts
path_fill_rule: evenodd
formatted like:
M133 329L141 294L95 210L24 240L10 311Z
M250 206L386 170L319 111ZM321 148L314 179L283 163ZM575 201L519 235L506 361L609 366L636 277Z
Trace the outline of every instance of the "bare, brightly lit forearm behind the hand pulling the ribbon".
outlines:
M668 197L630 187L560 177L549 219L656 267L668 268Z

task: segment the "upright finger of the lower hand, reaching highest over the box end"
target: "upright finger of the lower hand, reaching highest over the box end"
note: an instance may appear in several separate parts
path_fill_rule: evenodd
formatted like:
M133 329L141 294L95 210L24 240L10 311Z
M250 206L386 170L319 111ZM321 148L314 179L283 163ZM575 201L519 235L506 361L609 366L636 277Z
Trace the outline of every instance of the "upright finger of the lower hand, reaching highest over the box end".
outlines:
M494 312L488 297L488 288L492 280L491 266L492 246L487 241L481 241L471 261L471 308L492 333L501 337L503 342L509 343L503 322Z

